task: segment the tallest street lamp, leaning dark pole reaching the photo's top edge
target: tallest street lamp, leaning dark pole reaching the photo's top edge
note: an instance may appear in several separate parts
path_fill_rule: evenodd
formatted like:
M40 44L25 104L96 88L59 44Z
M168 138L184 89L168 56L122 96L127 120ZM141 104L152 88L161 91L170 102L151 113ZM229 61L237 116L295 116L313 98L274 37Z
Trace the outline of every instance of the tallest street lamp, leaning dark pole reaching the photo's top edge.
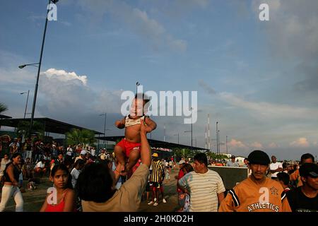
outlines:
M49 0L49 4L51 4L51 1L53 4L56 4L59 0ZM49 8L47 8L47 14L49 13ZM33 127L33 119L34 119L34 112L35 112L35 103L37 102L37 87L39 86L39 77L40 77L40 70L41 70L41 64L42 64L42 55L43 55L43 48L45 44L45 34L47 32L47 15L45 16L45 30L43 32L43 39L42 39L42 46L41 46L41 52L40 52L40 61L37 66L37 82L35 83L35 92L33 96L33 106L32 106L32 114L31 114L31 121L30 121L30 133L32 133L32 127ZM25 66L35 66L35 64L23 64L19 66L19 69L23 69Z

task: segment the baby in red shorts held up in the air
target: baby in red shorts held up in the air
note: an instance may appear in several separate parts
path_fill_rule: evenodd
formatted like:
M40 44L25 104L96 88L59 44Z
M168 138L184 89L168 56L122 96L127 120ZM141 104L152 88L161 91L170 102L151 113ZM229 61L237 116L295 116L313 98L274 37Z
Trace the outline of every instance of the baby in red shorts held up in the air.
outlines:
M140 98L139 95L142 98ZM140 120L143 119L143 121L145 122L146 131L148 133L150 133L157 127L155 121L151 120L148 116L145 115L147 110L145 105L148 102L149 100L145 97L144 94L136 94L131 105L130 114L124 117L124 119L117 120L115 122L117 128L125 128L125 138L117 143L114 148L114 153L120 165L120 169L122 170L121 174L123 176L130 172L132 167L136 165L140 158ZM127 158L129 159L129 161L126 164Z

